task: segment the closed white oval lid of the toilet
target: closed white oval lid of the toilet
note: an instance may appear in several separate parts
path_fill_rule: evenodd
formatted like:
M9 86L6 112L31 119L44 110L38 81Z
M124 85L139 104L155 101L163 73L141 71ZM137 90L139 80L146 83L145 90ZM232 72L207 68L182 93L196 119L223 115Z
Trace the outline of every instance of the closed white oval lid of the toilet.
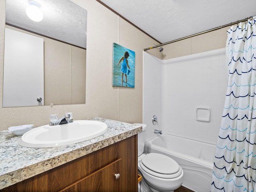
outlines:
M180 166L176 161L158 153L146 155L142 158L141 163L149 170L160 174L175 174L180 170Z

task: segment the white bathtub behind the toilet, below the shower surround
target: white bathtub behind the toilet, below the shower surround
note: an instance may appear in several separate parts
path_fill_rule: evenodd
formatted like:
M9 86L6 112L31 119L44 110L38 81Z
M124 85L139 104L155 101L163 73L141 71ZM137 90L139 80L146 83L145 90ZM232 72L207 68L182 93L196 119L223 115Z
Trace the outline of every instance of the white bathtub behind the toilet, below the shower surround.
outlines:
M216 145L162 134L145 142L144 152L174 159L183 169L182 186L195 192L210 192Z

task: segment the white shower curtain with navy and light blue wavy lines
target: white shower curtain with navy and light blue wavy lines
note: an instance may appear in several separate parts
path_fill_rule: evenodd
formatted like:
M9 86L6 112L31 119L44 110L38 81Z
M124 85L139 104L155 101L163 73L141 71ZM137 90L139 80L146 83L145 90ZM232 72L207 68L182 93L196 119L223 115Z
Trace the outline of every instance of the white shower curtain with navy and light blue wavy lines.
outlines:
M228 88L211 192L256 192L256 20L228 30ZM254 99L255 98L255 99Z

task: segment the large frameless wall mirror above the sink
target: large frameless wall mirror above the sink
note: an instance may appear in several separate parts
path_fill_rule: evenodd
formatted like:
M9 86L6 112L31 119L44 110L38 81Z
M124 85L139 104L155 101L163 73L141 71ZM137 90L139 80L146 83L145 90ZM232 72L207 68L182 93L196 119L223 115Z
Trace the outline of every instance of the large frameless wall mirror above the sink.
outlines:
M26 14L31 5L42 12L41 21L33 21ZM6 0L3 107L84 104L86 31L87 11L70 0ZM31 46L20 37L8 46L7 36L14 39L13 32L31 36L32 43L36 42L33 38L39 38L39 42L43 43L38 50L42 53L37 56L38 52L33 52L37 49L24 52L26 47ZM21 39L23 41L18 42ZM14 46L18 47L14 51L18 53L16 55L8 52L8 47L14 50ZM34 60L31 61L31 58ZM42 60L38 61L38 58ZM7 61L11 64L8 65ZM42 66L37 66L40 62ZM43 80L30 88L30 84L36 82L33 78L40 76ZM16 88L11 88L8 80L16 84ZM43 92L36 91L39 85L42 85ZM6 100L9 104L5 103ZM25 104L22 103L24 100ZM28 100L33 100L32 104Z

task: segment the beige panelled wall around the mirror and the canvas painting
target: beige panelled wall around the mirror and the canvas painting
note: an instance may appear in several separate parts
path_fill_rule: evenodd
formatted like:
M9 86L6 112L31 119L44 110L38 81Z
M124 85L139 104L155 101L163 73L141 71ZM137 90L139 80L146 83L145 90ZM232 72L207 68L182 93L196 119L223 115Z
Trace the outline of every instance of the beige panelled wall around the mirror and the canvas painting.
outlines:
M41 126L49 123L50 114L65 112L73 112L75 120L100 116L142 122L142 52L157 42L95 0L72 1L88 11L86 104L2 108L5 0L0 0L0 130L22 124ZM112 87L113 42L136 52L135 88ZM151 54L162 57L158 50Z

